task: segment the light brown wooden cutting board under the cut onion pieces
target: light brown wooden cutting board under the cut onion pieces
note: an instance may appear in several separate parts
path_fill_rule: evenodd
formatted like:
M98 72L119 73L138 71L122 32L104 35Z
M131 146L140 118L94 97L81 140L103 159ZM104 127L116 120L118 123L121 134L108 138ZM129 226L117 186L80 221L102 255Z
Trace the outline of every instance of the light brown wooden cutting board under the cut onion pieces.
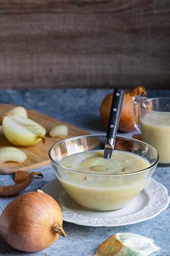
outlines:
M0 104L0 116L4 113L7 113L10 109L14 108L15 105L10 104ZM48 151L50 147L61 140L61 138L51 138L48 134L52 127L57 124L66 124L69 129L69 134L67 138L79 136L79 135L86 135L89 134L86 131L79 129L78 127L71 125L69 123L64 123L57 119L54 119L50 116L43 115L38 112L34 112L32 110L27 110L29 118L33 119L34 121L41 124L46 129L45 135L45 143L43 144L40 141L38 144L34 146L27 146L27 147L19 147L11 144L4 136L2 127L0 128L0 148L5 146L15 146L20 150L24 151L27 154L27 160L20 164L16 162L6 162L4 164L0 164L0 174L11 174L15 173L16 170L32 170L34 168L38 168L41 166L45 166L50 163L48 158Z

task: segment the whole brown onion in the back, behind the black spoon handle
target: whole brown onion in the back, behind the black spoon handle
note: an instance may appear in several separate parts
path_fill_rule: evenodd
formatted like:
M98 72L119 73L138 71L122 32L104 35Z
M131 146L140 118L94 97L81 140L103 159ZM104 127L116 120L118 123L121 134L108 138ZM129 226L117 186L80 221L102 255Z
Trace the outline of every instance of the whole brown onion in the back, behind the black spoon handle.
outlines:
M118 130L120 132L131 132L135 129L133 120L133 97L137 95L147 95L145 88L137 87L131 92L125 92L118 125ZM109 121L112 96L112 94L107 95L101 104L101 120L105 127L107 127Z

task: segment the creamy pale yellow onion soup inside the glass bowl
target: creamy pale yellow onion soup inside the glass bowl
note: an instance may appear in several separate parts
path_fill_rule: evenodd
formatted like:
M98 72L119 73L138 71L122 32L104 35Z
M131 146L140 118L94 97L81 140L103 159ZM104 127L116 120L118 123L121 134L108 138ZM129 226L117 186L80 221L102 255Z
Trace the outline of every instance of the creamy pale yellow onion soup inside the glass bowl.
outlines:
M147 172L132 173L148 168L150 163L130 152L115 150L111 159L105 159L103 153L103 150L87 151L63 158L58 168L58 179L72 199L85 208L119 209L147 183Z

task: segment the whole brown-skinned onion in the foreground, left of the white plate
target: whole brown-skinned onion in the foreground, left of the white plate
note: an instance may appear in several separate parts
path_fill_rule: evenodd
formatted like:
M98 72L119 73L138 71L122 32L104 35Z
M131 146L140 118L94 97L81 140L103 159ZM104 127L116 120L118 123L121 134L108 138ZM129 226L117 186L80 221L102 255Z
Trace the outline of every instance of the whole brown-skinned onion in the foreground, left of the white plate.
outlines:
M23 194L7 205L0 217L0 234L13 248L39 251L52 245L62 228L58 203L41 190Z

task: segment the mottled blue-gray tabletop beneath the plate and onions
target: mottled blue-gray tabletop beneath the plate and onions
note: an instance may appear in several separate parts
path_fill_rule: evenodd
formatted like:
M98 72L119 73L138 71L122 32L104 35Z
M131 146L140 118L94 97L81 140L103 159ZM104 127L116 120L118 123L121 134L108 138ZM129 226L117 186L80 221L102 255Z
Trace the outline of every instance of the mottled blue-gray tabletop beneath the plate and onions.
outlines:
M35 111L75 124L92 133L104 133L100 122L99 107L105 95L111 90L93 89L55 89L55 90L0 90L0 103L23 105ZM168 96L170 91L148 91L149 97ZM126 135L126 134L124 134ZM55 175L51 166L39 168L44 179L34 180L24 192L41 188ZM169 191L170 167L158 167L154 174ZM0 175L0 184L12 184L11 175ZM1 198L0 205L5 208L13 198ZM154 219L122 227L85 227L64 222L67 238L58 238L49 248L29 255L83 256L93 255L95 248L115 232L134 232L150 237L160 246L161 251L153 254L170 255L170 210L167 208ZM0 238L0 255L24 255L8 246Z

